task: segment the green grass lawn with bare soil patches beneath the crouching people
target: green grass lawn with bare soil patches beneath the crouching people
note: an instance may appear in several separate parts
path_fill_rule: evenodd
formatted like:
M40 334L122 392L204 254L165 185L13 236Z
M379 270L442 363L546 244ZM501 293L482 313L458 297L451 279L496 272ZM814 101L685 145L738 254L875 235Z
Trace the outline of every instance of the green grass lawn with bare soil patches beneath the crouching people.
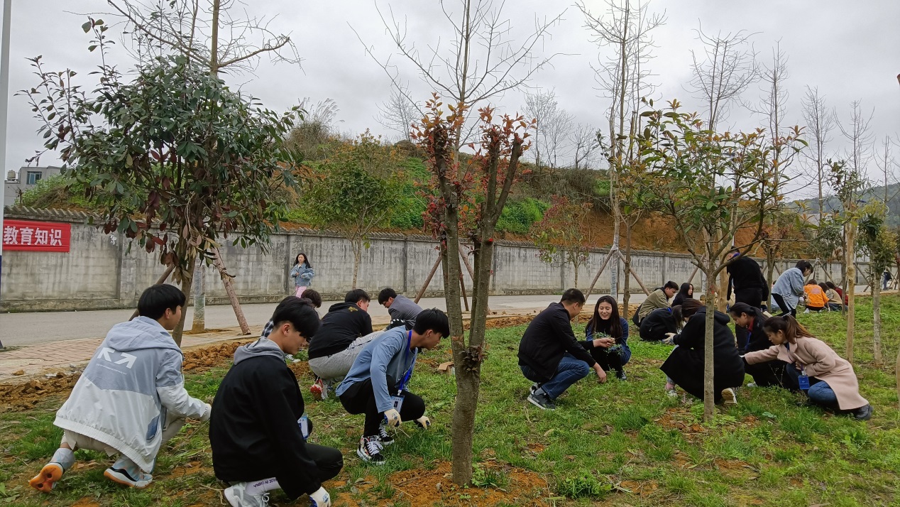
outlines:
M510 491L509 470L546 480L505 504L588 505L900 505L900 430L894 361L900 338L900 297L884 298L886 365L871 363L871 307L857 310L856 361L862 394L875 407L871 421L832 416L807 406L799 394L775 388L742 389L739 404L719 409L716 422L700 423L702 403L663 393L659 370L670 348L633 339L628 380L600 385L589 376L543 412L526 403L527 387L516 351L524 326L491 330L483 370L475 435L478 483ZM814 334L843 355L846 321L840 313L802 314ZM581 327L579 328L581 330ZM406 470L443 466L450 458L455 385L437 373L447 344L423 354L410 390L428 403L432 430L409 424L391 448L386 466L356 457L363 417L347 415L337 400L308 402L314 440L340 448L345 469L326 484L336 505L406 505L409 485L392 480ZM188 390L211 400L225 367L187 376ZM749 377L748 377L749 379ZM304 394L311 383L303 376ZM749 381L749 380L748 380ZM57 448L52 426L61 400L28 412L0 414L0 505L220 505L222 485L211 473L208 425L187 428L160 454L154 481L144 491L125 490L103 478L109 460L78 451L79 466L49 495L26 484ZM798 405L798 403L800 403ZM465 489L435 489L435 504L482 504ZM275 493L276 504L287 503ZM93 503L95 502L95 503ZM302 499L298 504L305 505Z

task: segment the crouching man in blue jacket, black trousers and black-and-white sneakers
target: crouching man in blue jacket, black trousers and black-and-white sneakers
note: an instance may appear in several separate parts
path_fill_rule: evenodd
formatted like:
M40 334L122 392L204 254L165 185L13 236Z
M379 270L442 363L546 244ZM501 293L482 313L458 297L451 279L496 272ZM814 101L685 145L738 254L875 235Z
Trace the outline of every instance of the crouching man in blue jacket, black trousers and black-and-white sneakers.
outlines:
M393 443L387 426L397 428L402 421L416 421L425 430L431 426L425 415L425 402L406 388L419 349L434 349L447 336L450 324L446 313L437 308L423 310L412 330L386 330L356 357L335 394L347 412L365 413L363 437L356 448L363 461L385 463L382 450Z

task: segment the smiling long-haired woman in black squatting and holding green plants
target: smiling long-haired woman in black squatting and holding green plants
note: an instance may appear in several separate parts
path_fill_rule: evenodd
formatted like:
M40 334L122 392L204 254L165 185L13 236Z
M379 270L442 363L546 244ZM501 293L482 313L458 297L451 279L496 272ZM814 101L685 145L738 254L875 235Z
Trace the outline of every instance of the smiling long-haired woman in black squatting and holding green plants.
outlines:
M616 378L626 380L625 365L631 358L628 348L628 321L619 317L618 304L611 295L597 300L594 316L584 328L585 340L581 343L590 357L603 368L613 370Z

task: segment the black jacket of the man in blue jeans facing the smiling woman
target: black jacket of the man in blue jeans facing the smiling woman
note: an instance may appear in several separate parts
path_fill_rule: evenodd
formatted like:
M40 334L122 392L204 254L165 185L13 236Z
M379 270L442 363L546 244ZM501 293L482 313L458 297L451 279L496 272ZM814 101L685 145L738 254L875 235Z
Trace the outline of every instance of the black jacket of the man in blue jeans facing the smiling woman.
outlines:
M518 364L531 368L545 382L556 374L566 352L593 367L597 362L575 339L569 312L563 303L551 303L528 324L518 344Z

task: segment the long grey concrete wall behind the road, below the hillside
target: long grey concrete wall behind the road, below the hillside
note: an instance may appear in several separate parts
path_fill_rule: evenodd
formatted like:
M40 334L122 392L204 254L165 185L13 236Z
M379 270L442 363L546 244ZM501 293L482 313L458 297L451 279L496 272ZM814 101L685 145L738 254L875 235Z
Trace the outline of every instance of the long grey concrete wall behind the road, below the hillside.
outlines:
M23 220L44 220L72 223L72 249L67 253L4 252L2 311L62 311L130 308L137 303L140 292L153 284L163 267L157 254L148 254L137 244L118 233L103 234L87 223L84 213L41 211L7 208L6 216ZM288 271L298 252L309 256L316 270L312 286L326 298L343 299L352 287L353 252L350 243L334 234L319 231L290 231L275 234L267 253L258 247L242 249L230 245L221 250L222 258L235 275L234 285L245 303L279 301L293 294L293 282ZM365 249L357 285L370 294L392 286L397 292L416 294L424 285L428 272L437 260L437 242L424 236L379 234ZM607 249L594 249L587 263L580 268L579 284L590 285ZM471 257L470 257L471 260ZM792 267L796 260L779 261L776 273ZM632 266L648 289L666 280L688 281L694 272L689 256L662 252L638 251L632 255ZM574 270L569 265L547 265L537 257L537 249L528 243L498 240L493 258L492 294L553 294L574 285ZM831 267L833 277L840 278L840 264ZM206 268L208 303L225 303L225 291L219 274ZM817 273L817 277L820 275ZM444 279L441 270L428 286L428 295L443 295ZM619 270L621 290L623 274ZM471 290L472 279L465 273L466 288ZM701 292L702 278L698 272L691 282ZM864 283L864 282L863 282ZM610 289L609 271L600 276L593 294ZM632 282L633 293L640 287Z

